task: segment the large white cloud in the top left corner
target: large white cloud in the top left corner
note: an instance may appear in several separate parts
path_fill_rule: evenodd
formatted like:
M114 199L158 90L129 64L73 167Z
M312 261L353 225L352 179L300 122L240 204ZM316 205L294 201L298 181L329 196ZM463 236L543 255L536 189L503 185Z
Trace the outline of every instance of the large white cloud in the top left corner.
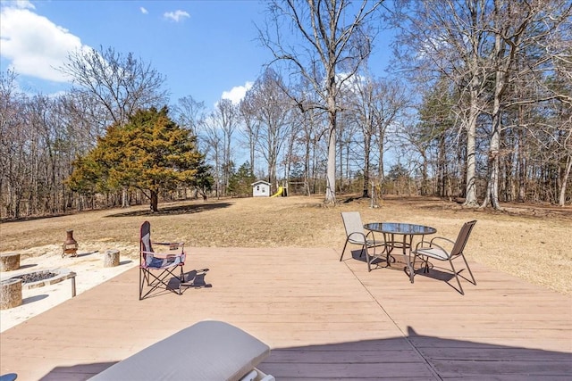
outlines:
M67 82L69 79L56 68L63 65L69 52L81 47L80 37L30 8L33 4L23 1L0 10L0 54L19 74Z

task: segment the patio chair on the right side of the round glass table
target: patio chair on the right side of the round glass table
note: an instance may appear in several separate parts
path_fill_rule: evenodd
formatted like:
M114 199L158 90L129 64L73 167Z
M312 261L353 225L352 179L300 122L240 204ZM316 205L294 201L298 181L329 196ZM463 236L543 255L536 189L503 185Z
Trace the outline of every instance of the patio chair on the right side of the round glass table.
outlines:
M421 241L418 244L416 244L416 249L411 252L414 255L414 257L413 257L413 269L415 269L415 263L416 263L417 257L419 257L421 259L421 261L423 261L423 263L424 263L424 266L423 266L423 272L424 273L429 272L429 267L430 267L429 266L429 259L433 259L433 260L437 260L437 261L449 261L450 269L451 269L452 273L455 275L455 278L457 279L457 284L458 284L458 290L457 291L460 294L464 295L465 292L463 291L463 286L461 286L461 282L458 278L458 274L463 269L460 269L457 271L455 269L455 266L453 265L453 260L456 260L458 258L462 258L463 261L465 261L465 267L468 270L468 273L471 276L471 279L467 279L467 277L463 277L463 278L467 279L467 281L469 281L471 284L476 286L475 277L473 276L473 272L471 271L471 269L468 266L467 258L465 258L465 253L463 253L463 251L465 250L465 245L467 244L467 241L468 241L468 237L470 236L471 231L473 230L473 227L475 227L475 223L476 223L476 220L466 222L463 225L463 227L461 228L461 230L458 232L457 240L455 240L455 241L452 241L449 238L445 238L442 236L435 236L429 242ZM437 244L437 242L439 242L439 244ZM447 250L447 248L445 246L447 246L447 248L450 248L450 250ZM414 276L415 276L415 271L413 272L412 279ZM447 282L447 283L449 283L449 282ZM455 287L453 286L453 288L455 288Z

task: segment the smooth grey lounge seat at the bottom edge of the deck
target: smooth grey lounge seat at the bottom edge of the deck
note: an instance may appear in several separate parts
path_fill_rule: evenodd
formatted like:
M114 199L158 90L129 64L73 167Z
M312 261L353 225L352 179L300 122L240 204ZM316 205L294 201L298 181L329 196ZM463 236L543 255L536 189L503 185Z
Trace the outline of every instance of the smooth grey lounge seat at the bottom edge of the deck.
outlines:
M270 347L238 327L204 320L89 378L116 380L274 381L256 367Z

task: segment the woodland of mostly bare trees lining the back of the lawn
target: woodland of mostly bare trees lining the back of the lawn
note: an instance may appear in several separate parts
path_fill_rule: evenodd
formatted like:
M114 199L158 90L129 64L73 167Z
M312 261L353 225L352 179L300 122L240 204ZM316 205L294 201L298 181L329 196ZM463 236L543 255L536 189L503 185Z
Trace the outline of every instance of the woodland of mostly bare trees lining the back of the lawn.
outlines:
M248 195L248 181L260 178L290 184L290 194L324 194L325 203L374 190L494 208L570 204L571 8L565 0L269 3L257 27L275 60L240 104L208 110L188 95L168 108L196 138L212 184L187 178L157 197ZM381 29L395 31L384 77L367 62ZM169 104L162 74L113 47L70 52L61 70L73 87L59 95L30 95L13 72L1 73L3 219L144 200L128 182L94 193L72 190L69 178L111 126Z

